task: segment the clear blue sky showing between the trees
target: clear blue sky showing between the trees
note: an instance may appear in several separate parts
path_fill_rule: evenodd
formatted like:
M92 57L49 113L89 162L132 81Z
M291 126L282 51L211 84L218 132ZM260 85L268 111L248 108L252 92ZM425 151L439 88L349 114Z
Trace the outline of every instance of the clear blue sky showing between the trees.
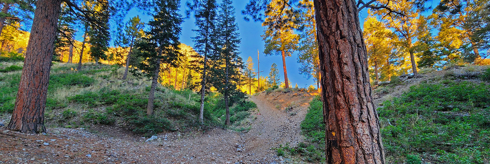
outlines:
M218 0L221 1L221 0ZM270 66L272 63L277 64L280 75L281 75L281 81L284 81L284 72L282 69L282 58L281 56L276 56L276 55L271 55L271 56L264 56L264 45L265 42L262 40L262 37L260 35L263 34L264 27L262 27L260 22L246 22L243 19L243 15L241 14L241 11L245 8L246 3L249 0L233 0L233 6L235 6L235 16L236 20L238 23L238 26L240 28L240 36L242 38L242 43L240 44L239 50L241 51L241 57L243 58L244 62L247 60L249 56L252 57L253 62L255 63L255 69L257 70L257 49L260 52L260 69L263 70L264 72L261 72L262 76L268 76L269 71L270 71ZM181 7L180 7L180 13L185 16L185 6L186 0L181 0ZM428 5L431 5L435 7L439 2L429 2ZM430 14L432 13L431 11L424 13L425 14ZM148 16L142 12L137 11L136 9L132 9L128 12L126 15L126 18L124 19L124 22L129 20L130 18L139 15L140 18L142 19L143 22L147 23L149 19L151 19L151 16ZM361 22L361 28L363 26L364 19L367 17L367 12L366 9L361 11L359 13L359 20ZM189 19L185 19L184 23L182 23L182 35L180 36L180 41L183 44L189 45L191 47L194 47L194 42L192 41L192 37L196 36L195 32L192 31L192 29L196 29L195 24L194 24L194 18L191 16ZM82 35L79 34L77 35L78 40L81 40ZM298 68L299 64L297 63L297 53L294 53L291 57L286 58L286 66L287 66L287 71L288 71L288 77L289 80L291 81L291 85L294 87L295 84L298 85L298 87L308 87L309 85L314 85L316 87L316 83L313 81L313 79L306 79L303 77L303 75L299 74Z

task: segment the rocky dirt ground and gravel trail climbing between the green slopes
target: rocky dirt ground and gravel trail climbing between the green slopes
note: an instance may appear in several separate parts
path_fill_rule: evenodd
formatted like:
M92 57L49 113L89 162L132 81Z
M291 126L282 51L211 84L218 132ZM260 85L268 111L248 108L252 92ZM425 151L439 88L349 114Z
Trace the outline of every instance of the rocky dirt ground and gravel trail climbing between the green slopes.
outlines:
M48 129L31 135L0 127L0 164L284 164L276 156L280 144L304 140L300 123L313 96L306 92L251 96L257 104L247 133L215 128L190 133L170 132L158 139L121 128Z

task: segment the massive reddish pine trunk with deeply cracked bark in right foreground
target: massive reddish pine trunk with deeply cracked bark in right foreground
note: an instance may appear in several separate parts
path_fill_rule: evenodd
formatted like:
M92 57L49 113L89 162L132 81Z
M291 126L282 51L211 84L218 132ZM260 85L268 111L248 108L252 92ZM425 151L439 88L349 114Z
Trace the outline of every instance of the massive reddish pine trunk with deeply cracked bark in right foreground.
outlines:
M355 0L315 0L326 164L384 164Z

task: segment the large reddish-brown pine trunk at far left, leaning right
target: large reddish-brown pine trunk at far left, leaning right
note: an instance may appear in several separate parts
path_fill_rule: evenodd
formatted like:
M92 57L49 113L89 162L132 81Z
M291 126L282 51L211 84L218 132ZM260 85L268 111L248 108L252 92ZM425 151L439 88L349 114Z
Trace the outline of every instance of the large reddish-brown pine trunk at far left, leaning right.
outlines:
M19 91L8 129L42 133L49 71L61 0L38 0L27 45Z

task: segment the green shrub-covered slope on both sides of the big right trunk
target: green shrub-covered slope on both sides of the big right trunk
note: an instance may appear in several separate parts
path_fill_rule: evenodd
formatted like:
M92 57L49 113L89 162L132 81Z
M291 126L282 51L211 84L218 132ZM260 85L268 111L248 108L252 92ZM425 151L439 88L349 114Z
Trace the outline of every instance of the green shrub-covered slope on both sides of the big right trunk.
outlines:
M422 82L381 104L377 111L388 164L490 163L490 85L453 79ZM324 161L321 105L317 96L301 123L306 142L282 146L279 155Z

